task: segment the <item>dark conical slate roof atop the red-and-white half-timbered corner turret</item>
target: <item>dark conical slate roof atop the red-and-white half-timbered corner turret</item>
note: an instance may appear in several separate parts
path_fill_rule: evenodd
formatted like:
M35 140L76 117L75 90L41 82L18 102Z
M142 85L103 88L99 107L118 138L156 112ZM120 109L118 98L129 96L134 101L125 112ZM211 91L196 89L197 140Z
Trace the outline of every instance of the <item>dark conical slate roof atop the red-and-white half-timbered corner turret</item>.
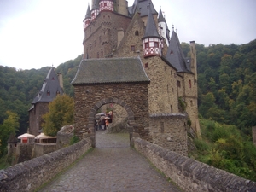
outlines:
M144 34L143 38L148 38L148 37L150 37L150 38L160 38L160 35L159 35L157 27L155 25L154 17L152 15L150 7L151 6L149 6L149 9L148 9L147 26L146 26L146 31L145 31L145 34Z

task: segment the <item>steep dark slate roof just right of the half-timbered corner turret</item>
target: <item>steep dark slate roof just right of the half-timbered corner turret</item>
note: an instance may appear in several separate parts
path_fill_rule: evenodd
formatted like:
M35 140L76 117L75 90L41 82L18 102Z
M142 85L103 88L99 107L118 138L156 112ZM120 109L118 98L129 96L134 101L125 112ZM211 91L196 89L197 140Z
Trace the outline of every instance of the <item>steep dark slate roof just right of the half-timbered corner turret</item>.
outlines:
M177 68L177 72L191 73L187 67L187 63L177 38L177 33L172 31L172 37L166 53L166 59L172 63L172 66Z

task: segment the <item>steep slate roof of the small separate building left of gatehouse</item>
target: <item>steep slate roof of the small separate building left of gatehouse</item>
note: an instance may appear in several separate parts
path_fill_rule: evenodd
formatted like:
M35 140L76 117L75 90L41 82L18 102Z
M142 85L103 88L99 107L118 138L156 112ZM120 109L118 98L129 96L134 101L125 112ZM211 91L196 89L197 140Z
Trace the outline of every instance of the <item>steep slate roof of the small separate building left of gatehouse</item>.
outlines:
M47 96L47 91L49 90L50 95ZM49 69L49 73L47 74L46 78L44 79L44 84L42 89L39 91L38 96L36 96L32 104L37 102L52 102L52 100L57 95L57 91L60 91L60 94L63 94L61 89L59 79L53 67ZM32 109L32 108L31 108ZM30 109L30 110L31 110Z

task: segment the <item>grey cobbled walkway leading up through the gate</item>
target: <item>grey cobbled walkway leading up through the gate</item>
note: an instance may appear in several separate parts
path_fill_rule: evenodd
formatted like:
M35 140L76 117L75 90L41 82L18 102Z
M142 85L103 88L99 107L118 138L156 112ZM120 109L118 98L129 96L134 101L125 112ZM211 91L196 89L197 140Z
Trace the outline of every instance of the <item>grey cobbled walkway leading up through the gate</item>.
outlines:
M130 148L128 134L96 131L96 148L40 192L181 191Z

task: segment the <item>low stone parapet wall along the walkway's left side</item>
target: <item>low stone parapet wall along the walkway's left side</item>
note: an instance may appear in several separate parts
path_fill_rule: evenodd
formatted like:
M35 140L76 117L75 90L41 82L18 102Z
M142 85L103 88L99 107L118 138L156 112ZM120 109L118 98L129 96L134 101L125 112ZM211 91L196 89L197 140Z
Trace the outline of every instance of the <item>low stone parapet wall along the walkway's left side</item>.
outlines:
M34 191L71 165L91 148L91 141L83 139L70 147L27 160L0 170L0 191Z

